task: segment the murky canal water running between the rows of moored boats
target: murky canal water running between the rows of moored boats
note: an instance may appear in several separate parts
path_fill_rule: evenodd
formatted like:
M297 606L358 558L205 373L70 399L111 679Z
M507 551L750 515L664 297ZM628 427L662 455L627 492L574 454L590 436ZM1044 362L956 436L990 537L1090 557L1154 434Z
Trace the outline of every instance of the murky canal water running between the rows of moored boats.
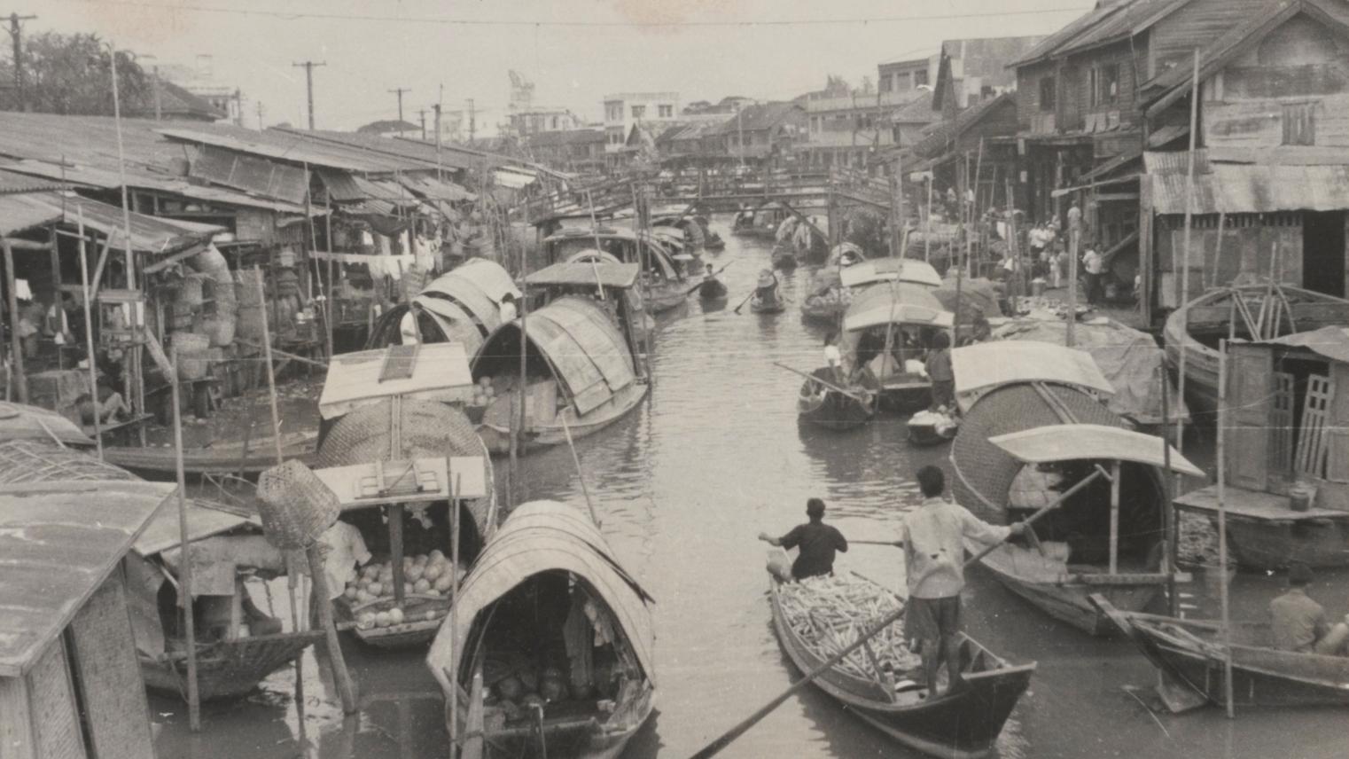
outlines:
M803 324L809 271L780 274L786 313L758 316L734 307L769 258L766 242L735 238L710 254L731 290L727 305L662 316L653 357L654 386L625 420L579 440L585 485L619 559L656 598L657 713L627 758L681 759L774 697L797 677L773 637L765 596L761 531L786 532L804 520L805 500L828 504L828 520L851 539L896 535L920 501L913 473L943 463L947 448L912 448L904 421L882 417L854 432L799 427L801 370L822 363L824 331ZM505 481L506 462L498 465ZM584 508L581 479L565 448L522 459L517 498L554 498ZM901 589L900 552L854 546L838 566ZM1153 670L1125 640L1098 640L1051 621L974 570L965 593L967 631L1014 662L1039 667L1012 714L997 755L1342 758L1342 710L1241 712L1229 721L1207 708L1152 716ZM1263 614L1279 579L1241 574L1237 614ZM1188 586L1191 616L1217 613L1217 586ZM1318 578L1313 596L1331 616L1349 610L1345 577ZM278 604L281 606L283 604ZM151 697L159 756L281 759L430 759L449 756L440 690L418 652L387 654L344 643L362 697L344 718L313 654L304 659L302 704L294 670L268 678L250 698L208 704L204 729L188 731L186 706ZM1130 691L1130 689L1135 689ZM304 733L304 736L301 735ZM886 740L823 694L807 689L734 743L726 756L917 756Z

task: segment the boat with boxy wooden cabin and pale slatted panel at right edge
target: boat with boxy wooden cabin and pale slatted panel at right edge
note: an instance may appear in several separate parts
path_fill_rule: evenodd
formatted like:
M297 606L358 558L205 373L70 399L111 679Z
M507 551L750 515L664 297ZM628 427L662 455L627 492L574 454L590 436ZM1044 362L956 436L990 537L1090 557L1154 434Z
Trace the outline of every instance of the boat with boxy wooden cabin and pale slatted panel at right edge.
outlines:
M1225 508L1241 566L1349 566L1349 327L1228 347ZM1176 498L1217 519L1218 488Z

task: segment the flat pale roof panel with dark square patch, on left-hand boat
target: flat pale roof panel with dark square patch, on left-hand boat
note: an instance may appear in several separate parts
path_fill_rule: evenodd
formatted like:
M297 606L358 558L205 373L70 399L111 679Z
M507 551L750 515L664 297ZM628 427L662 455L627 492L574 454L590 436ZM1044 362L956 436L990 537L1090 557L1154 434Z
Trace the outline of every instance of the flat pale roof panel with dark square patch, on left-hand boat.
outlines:
M407 370L384 378L386 363L401 363L394 351L411 352ZM394 346L335 357L328 365L328 380L318 397L318 415L336 419L362 405L391 396L455 402L472 396L473 375L468 355L460 343L429 343L414 348Z

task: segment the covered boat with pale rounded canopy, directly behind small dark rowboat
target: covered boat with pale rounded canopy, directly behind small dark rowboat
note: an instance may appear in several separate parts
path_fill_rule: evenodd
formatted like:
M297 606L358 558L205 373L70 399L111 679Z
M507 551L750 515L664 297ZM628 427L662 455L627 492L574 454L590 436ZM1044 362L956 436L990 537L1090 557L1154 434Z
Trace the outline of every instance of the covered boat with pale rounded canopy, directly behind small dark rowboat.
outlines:
M878 282L854 294L840 347L850 366L876 378L882 407L911 413L931 405L932 381L909 362L920 361L935 335L950 328L951 313L927 288Z

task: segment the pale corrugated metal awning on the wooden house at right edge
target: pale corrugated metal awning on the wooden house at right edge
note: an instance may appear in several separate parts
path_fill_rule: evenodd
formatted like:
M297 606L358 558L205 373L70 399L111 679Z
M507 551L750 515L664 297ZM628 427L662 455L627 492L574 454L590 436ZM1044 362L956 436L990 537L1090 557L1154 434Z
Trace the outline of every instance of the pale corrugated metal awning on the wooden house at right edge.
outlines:
M1186 212L1184 174L1153 174L1157 213ZM1214 163L1194 177L1194 213L1349 209L1349 166Z

